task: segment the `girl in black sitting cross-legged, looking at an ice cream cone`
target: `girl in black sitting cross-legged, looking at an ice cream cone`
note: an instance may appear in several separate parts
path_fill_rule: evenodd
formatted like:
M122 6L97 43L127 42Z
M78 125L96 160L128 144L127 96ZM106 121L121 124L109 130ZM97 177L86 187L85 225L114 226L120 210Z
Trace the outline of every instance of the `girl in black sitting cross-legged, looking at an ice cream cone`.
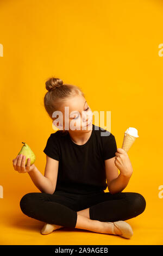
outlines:
M128 154L117 149L112 133L92 124L79 87L52 77L46 89L45 109L60 129L51 133L43 150L44 176L35 164L30 166L30 159L25 166L26 156L12 160L14 169L28 172L41 191L21 198L22 212L45 222L41 234L68 227L129 239L133 230L125 220L140 215L146 201L139 193L122 192L133 173ZM107 186L109 192L104 192Z

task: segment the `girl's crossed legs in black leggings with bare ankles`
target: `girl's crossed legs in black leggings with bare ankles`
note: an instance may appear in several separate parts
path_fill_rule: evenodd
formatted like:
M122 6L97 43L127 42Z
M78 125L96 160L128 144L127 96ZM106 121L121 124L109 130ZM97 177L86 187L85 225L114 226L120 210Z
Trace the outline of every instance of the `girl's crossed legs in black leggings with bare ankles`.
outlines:
M97 204L95 204L96 202ZM146 201L141 194L130 192L105 193L100 197L88 199L86 204L91 206L76 212L70 209L68 204L67 206L65 203L62 204L57 196L46 193L28 193L20 202L24 214L46 223L41 230L41 234L49 234L61 227L73 227L112 234L111 222L136 217L146 207ZM82 205L84 206L84 203ZM121 234L120 230L116 230L116 227L114 232Z

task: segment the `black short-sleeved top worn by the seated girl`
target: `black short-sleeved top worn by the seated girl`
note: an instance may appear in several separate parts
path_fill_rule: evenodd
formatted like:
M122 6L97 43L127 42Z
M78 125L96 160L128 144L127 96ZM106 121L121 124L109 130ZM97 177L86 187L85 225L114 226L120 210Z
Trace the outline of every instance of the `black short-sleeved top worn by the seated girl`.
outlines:
M51 133L43 152L59 161L55 191L87 194L104 191L107 187L104 160L115 156L114 135L92 124L89 140L78 145L69 132Z

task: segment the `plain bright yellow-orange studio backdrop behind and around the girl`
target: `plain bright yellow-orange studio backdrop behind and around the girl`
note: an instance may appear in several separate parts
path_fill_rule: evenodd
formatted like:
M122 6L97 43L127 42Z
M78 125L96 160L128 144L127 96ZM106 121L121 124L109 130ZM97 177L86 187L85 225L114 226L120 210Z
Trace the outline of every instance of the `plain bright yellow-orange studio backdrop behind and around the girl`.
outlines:
M0 5L1 245L162 245L162 1L1 0ZM124 192L141 193L147 205L127 221L134 230L130 240L68 228L43 236L43 223L21 212L22 196L40 191L27 173L14 170L12 159L27 142L44 174L43 149L55 132L43 106L51 76L79 86L92 111L111 111L118 148L128 127L138 130L128 153L134 173Z

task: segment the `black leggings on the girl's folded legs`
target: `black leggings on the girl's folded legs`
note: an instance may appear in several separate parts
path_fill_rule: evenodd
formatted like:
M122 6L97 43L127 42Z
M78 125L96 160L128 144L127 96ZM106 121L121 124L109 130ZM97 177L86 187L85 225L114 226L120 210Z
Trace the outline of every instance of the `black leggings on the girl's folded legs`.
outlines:
M76 227L77 211L90 208L90 219L103 222L125 221L141 214L146 200L139 193L97 192L74 194L55 191L53 194L33 192L20 200L22 212L36 220L49 224Z

